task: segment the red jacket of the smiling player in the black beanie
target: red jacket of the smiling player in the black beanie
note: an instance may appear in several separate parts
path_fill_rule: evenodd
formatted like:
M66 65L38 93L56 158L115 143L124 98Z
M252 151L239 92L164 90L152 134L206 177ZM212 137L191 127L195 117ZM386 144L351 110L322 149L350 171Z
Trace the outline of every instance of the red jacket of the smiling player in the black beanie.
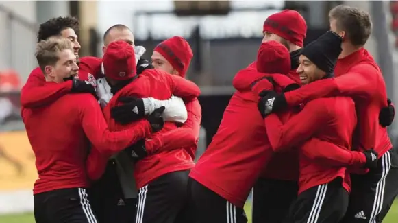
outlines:
M341 161L345 161L345 157L348 156L350 159L348 159L349 163L345 163L347 165L361 167L366 163L366 157L361 152L348 152L351 149L351 137L356 127L355 104L351 98L315 99L308 102L300 113L290 117L284 124L275 114L269 115L264 120L269 130L267 131L269 141L275 151L290 148L291 145L301 145L312 137L319 141L329 142L323 145L306 143L306 146L299 150L299 193L311 187L329 183L339 176L343 179L343 187L350 191L350 181L347 178L349 175L346 175L347 168L341 165ZM318 155L314 155L315 152ZM321 152L322 159L311 159L314 156L319 157ZM329 156L344 158L334 162Z

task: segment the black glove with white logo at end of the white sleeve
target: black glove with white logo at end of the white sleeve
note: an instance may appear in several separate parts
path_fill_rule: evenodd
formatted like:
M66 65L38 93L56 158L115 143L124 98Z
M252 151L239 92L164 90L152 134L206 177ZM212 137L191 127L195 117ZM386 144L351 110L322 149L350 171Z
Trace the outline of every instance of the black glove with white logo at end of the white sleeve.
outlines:
M144 101L136 97L120 97L119 102L125 104L110 110L110 116L120 124L128 124L145 116Z

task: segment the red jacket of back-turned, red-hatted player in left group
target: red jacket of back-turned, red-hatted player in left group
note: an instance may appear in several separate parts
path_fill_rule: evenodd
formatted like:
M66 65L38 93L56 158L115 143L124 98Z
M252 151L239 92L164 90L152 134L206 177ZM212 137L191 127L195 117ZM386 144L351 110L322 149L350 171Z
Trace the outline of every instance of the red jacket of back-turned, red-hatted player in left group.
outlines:
M192 100L200 94L199 87L181 78L179 76L170 75L158 69L147 69L138 75L138 78L121 89L103 109L105 119L111 130L122 130L129 126L136 126L136 122L123 126L116 124L114 119L110 117L110 109L117 106L117 99L123 96L134 97L153 97L156 99L169 99L171 95L182 97L186 100ZM177 126L172 122L166 122L164 128L153 134L163 134L171 130L175 130ZM179 140L178 138L175 141ZM134 167L134 178L136 178L137 187L141 188L164 174L169 172L190 169L195 165L190 154L184 149L162 151L151 154L145 159L138 161Z

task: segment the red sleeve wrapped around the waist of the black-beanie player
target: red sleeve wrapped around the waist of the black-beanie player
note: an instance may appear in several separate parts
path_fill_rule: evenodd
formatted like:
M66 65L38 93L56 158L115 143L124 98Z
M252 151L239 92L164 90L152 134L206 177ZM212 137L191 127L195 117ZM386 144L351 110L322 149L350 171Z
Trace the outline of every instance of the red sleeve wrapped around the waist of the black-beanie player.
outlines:
M325 165L362 167L366 163L366 156L362 152L345 150L314 137L301 146L301 151L309 159L325 163Z

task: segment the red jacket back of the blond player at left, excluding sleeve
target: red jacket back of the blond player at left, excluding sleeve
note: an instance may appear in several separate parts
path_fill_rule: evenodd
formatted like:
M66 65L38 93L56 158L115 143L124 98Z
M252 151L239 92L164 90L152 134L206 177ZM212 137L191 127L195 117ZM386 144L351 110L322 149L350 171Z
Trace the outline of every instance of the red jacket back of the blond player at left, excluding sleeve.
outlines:
M23 110L27 136L36 156L34 193L87 187L85 161L90 143L82 128L82 103L90 94L69 94L34 109Z

